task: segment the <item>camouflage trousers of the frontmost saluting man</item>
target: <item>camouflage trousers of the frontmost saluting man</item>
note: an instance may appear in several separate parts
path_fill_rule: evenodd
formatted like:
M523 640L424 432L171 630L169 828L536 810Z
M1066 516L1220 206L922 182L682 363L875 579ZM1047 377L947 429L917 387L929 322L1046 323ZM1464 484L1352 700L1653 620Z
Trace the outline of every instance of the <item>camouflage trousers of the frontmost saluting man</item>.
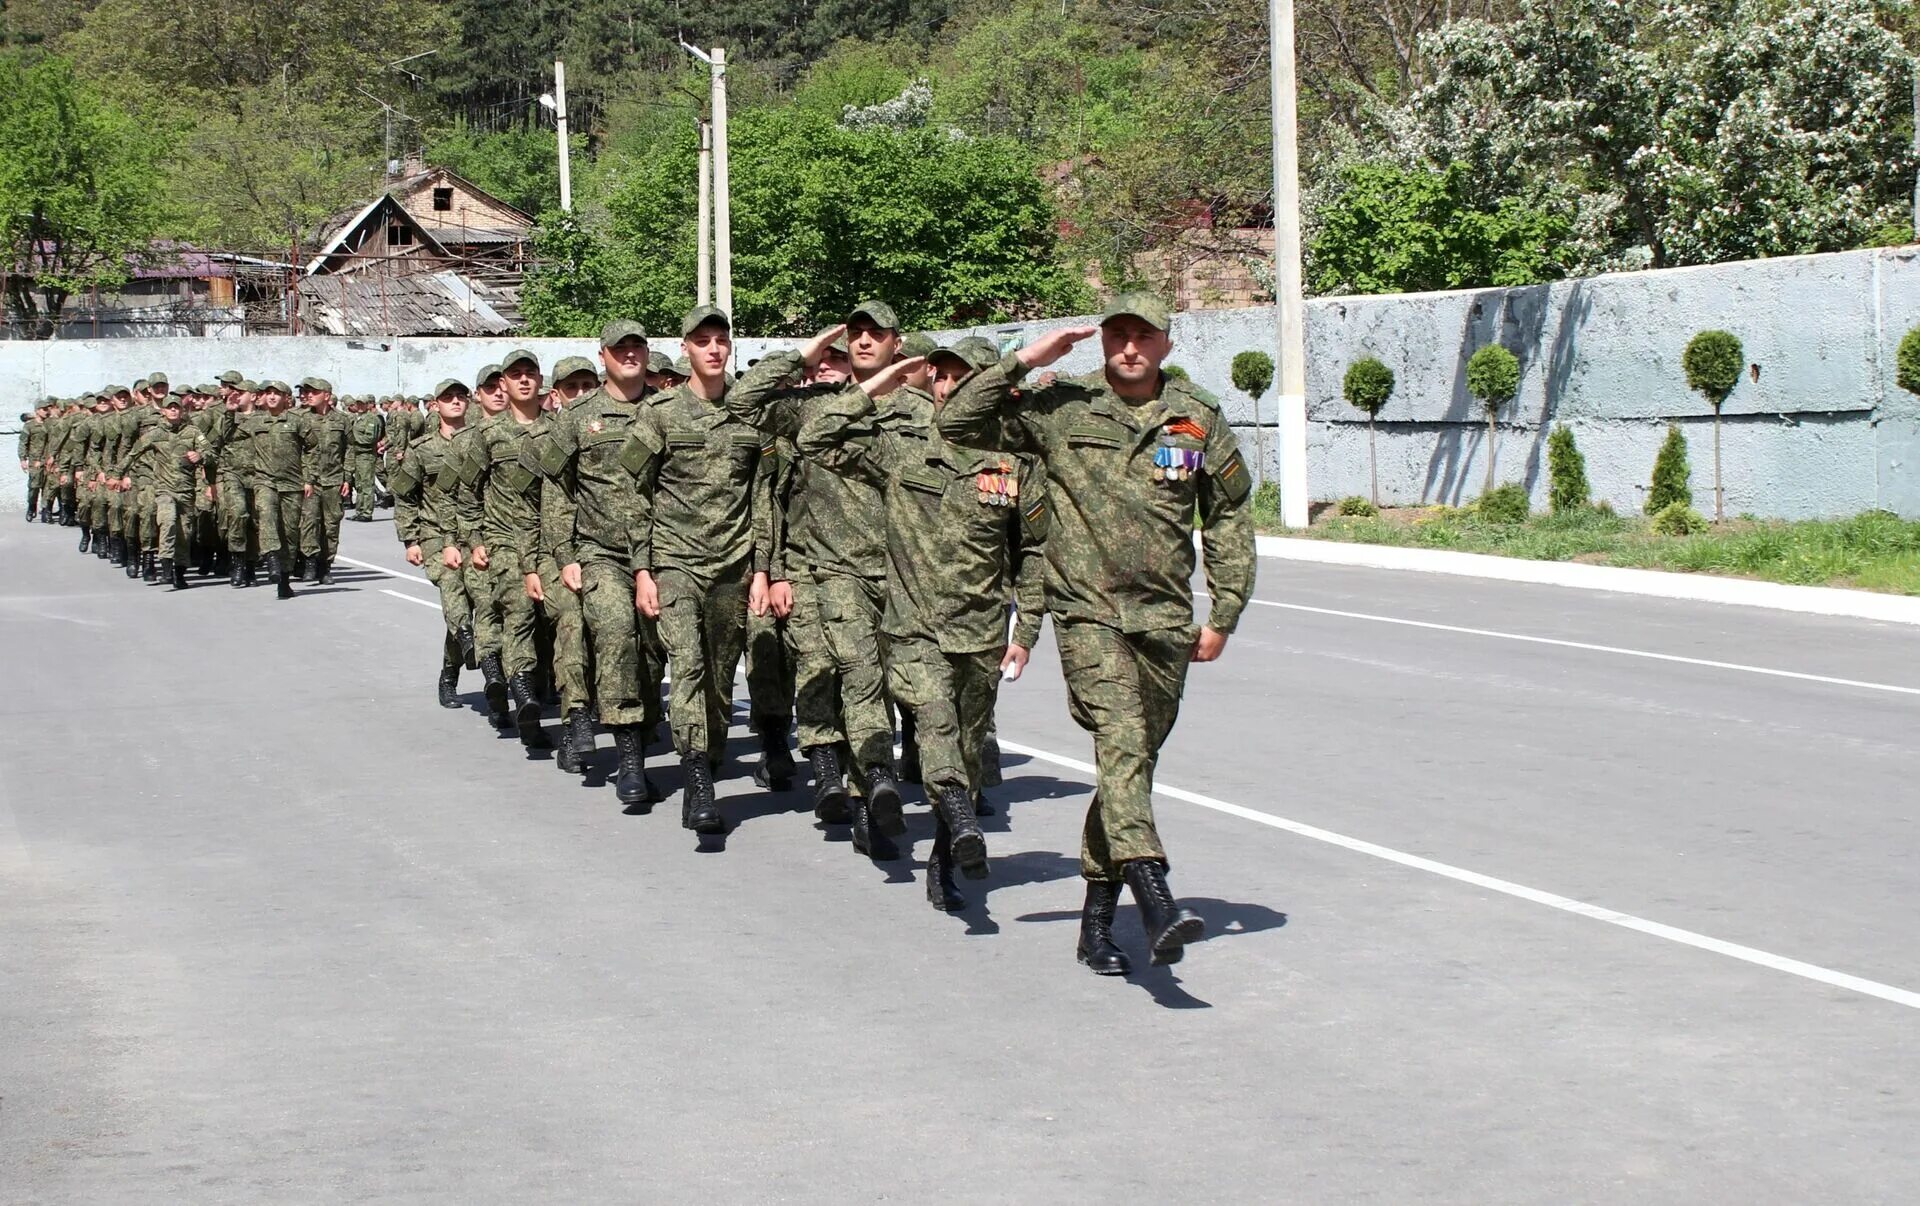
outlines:
M1089 880L1117 881L1123 862L1167 858L1154 828L1154 764L1181 712L1196 634L1190 624L1119 632L1054 616L1068 711L1092 734L1098 785L1081 835Z

